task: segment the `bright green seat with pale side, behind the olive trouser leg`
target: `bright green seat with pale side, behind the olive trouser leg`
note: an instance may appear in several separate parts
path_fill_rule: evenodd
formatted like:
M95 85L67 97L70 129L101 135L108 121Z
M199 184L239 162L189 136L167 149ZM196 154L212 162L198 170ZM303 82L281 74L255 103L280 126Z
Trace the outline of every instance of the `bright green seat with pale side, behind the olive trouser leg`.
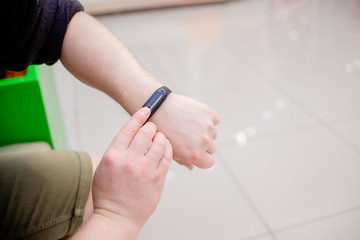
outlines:
M0 147L34 142L67 149L55 80L46 65L0 80Z

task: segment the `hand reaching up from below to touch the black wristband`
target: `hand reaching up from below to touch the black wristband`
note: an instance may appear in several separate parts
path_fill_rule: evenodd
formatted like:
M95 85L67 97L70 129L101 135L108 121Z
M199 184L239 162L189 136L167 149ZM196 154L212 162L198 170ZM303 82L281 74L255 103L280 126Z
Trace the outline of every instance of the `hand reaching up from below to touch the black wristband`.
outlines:
M93 182L94 213L126 218L140 229L155 211L172 159L165 135L137 111L115 136ZM149 147L150 146L150 147Z

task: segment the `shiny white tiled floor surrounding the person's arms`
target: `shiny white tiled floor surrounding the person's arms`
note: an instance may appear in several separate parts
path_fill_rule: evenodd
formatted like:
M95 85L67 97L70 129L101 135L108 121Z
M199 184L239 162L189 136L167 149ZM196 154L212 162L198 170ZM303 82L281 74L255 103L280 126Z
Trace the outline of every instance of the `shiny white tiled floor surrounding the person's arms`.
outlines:
M217 165L173 164L139 239L360 239L360 1L242 0L99 18L173 90L220 117ZM69 145L127 121L55 74Z

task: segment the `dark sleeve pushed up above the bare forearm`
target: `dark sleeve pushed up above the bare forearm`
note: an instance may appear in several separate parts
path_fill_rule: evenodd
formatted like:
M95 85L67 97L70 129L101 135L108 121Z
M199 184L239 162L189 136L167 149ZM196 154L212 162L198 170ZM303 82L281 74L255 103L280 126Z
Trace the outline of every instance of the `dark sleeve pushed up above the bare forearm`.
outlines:
M83 7L76 0L2 0L0 9L0 69L20 71L59 59L67 25Z

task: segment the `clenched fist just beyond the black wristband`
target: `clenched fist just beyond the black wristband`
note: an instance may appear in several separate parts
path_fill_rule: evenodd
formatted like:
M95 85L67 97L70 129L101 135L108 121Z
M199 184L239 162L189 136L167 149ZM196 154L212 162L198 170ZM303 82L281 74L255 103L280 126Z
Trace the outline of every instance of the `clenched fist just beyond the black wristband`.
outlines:
M192 169L215 164L217 113L191 98L171 93L151 118L169 139L174 160Z

